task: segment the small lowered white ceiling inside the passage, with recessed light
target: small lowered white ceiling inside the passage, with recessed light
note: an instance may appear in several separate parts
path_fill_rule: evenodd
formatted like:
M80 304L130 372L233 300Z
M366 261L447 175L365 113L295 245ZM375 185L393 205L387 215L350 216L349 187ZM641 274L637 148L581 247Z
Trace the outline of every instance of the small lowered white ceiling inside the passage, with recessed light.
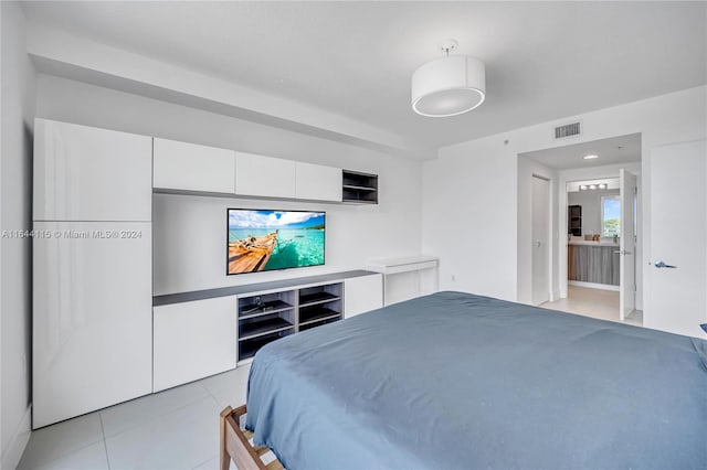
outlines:
M595 154L599 158L584 160L583 157L588 154ZM641 135L631 133L591 142L573 143L521 153L520 156L531 158L546 167L557 170L636 162L641 160Z

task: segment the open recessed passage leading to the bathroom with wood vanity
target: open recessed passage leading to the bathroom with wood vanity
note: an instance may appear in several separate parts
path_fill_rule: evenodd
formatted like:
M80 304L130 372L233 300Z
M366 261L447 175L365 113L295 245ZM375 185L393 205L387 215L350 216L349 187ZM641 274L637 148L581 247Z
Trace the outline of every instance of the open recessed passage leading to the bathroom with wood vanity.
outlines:
M523 160L526 162L521 162ZM520 153L518 171L519 181L521 178L527 178L526 181L532 179L531 188L526 185L524 189L524 185L519 183L518 191L519 207L525 204L526 210L530 213L526 218L527 222L524 222L521 215L519 215L518 222L519 300L538 305L537 300L547 297L541 293L541 286L545 285L546 278L542 275L544 263L540 259L542 254L538 249L541 246L537 245L537 239L541 235L536 233L538 227L535 216L538 210L535 201L541 199L541 193L538 193L540 182L537 181L537 178L530 178L537 174L547 174L552 181L557 182L550 185L550 201L553 201L551 215L555 222L552 223L553 225L548 224L551 243L549 246L550 253L545 258L550 264L549 286L545 289L550 292L550 301L545 302L542 307L641 324L642 312L636 311L642 308L642 271L637 269L642 263L640 234L642 224L640 194L641 135L620 136ZM605 195L604 202L602 202L602 197L597 191L599 184L606 183L603 180L611 180L611 188L614 190L614 194ZM577 218L574 221L571 220L570 205L580 204L570 202L568 193L570 183L577 185L576 192L580 191L580 183L584 185L583 192L585 194L592 192L589 190L590 185L597 184L593 188L595 209L593 212L590 211L591 213L589 214L582 214L588 217L584 222L589 222L589 218L591 218L591 226L590 224L578 225L581 222L578 222ZM624 188L622 191L621 188L623 186L632 188L630 190ZM609 186L604 185L603 189L609 189ZM530 204L530 201L523 202L524 191L526 201L532 199L532 204ZM630 203L627 200L630 200ZM574 215L577 216L578 214ZM541 221L541 218L539 220ZM626 226L619 227L615 225L619 221L624 221ZM526 224L525 228L524 224ZM525 233L525 239L527 239L528 232L532 233L532 247L526 249L530 252L528 253L528 258L532 258L532 268L524 271L525 261L521 258L524 248L521 247L520 235ZM624 233L625 237L622 237L621 233ZM614 238L613 235L616 235L616 237ZM603 275L604 278L610 275L610 281L600 282L584 279L573 282L576 279L571 277L571 244L591 246L600 255L598 258L600 260L603 256L606 263L603 266L601 263L595 263L590 269L593 270L594 275L602 274L602 270L608 271L603 273ZM584 258L584 261L587 261L587 256ZM537 267L536 259L538 260ZM527 274L524 275L524 273ZM525 284L526 287L524 287L524 282L527 282ZM604 290L597 289L597 287L604 288ZM527 292L525 297L524 292Z

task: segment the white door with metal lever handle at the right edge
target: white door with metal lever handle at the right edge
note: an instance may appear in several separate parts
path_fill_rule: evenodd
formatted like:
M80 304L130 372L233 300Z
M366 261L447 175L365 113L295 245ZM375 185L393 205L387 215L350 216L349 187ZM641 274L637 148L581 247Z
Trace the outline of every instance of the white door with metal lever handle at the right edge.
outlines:
M705 140L651 151L651 247L643 323L705 338L707 322L707 146Z

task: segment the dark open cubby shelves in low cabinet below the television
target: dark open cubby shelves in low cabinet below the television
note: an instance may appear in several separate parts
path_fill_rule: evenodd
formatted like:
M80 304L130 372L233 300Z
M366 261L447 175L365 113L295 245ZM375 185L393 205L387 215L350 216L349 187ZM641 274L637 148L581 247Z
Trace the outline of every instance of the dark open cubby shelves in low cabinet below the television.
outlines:
M239 356L252 359L271 341L338 321L344 284L333 282L239 298Z

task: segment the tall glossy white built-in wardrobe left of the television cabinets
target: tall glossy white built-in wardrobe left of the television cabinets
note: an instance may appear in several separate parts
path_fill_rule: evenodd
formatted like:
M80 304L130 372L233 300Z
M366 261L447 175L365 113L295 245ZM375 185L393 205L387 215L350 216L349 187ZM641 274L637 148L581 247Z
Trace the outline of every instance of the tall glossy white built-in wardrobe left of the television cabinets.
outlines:
M34 126L33 428L152 387L152 139Z

